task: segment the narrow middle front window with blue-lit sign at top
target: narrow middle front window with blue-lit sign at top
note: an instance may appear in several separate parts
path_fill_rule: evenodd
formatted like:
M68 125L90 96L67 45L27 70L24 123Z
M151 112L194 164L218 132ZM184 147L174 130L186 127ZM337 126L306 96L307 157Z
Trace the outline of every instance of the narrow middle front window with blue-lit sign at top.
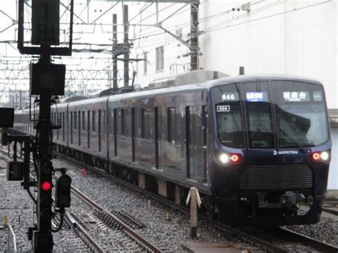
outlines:
M274 148L268 83L243 83L250 148Z

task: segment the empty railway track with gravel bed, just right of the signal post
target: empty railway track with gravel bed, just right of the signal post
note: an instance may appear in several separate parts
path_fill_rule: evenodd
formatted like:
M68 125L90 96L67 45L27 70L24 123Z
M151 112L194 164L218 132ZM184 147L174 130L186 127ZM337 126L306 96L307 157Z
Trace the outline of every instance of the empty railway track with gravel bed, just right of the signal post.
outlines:
M4 148L1 148L0 152L5 154L4 158L6 160L11 160L12 152L9 154L8 150ZM31 160L31 162L33 161ZM64 234L68 239L76 243L76 250L94 252L112 250L117 252L161 252L155 244L135 231L135 229L145 227L145 224L138 222L126 213L104 210L103 207L83 195L75 187L71 187L71 192L73 196L75 195L78 200L86 203L92 209L83 209L81 204L76 203L78 205L74 205L72 203L72 212L66 212L66 222L63 228L68 231ZM88 216L88 211L91 213L90 216ZM55 222L59 222L59 220L55 220ZM73 229L78 238L69 229ZM83 241L83 245L78 242L79 238Z

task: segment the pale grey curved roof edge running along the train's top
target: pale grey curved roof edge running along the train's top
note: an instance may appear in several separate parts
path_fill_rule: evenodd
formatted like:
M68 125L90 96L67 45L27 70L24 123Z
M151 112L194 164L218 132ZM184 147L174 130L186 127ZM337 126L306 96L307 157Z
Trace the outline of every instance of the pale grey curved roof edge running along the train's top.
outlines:
M307 83L315 83L317 85L321 85L319 81L313 78L306 78L302 76L291 76L291 75L272 75L272 74L257 74L257 75L241 75L241 76L228 76L224 78L215 79L212 81L206 81L203 83L194 83L187 84L181 86L170 86L165 88L154 88L147 89L144 91L135 91L132 93L123 93L118 95L111 95L109 97L101 97L101 98L88 98L85 103L98 103L104 100L116 101L116 100L124 100L130 98L152 98L156 95L165 95L168 93L177 94L183 92L196 92L209 90L214 86L221 86L227 83L235 83L235 82L245 82L245 81L265 81L265 80L290 80L290 81L301 81ZM82 105L83 100L71 102L71 105ZM58 104L60 106L61 104Z

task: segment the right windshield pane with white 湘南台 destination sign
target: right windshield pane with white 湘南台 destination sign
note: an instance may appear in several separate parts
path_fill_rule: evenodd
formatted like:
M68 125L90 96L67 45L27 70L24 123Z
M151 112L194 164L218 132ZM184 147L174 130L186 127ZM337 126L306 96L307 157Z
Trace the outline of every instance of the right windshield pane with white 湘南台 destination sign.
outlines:
M329 138L322 86L272 81L280 148L311 147Z

